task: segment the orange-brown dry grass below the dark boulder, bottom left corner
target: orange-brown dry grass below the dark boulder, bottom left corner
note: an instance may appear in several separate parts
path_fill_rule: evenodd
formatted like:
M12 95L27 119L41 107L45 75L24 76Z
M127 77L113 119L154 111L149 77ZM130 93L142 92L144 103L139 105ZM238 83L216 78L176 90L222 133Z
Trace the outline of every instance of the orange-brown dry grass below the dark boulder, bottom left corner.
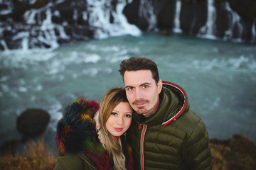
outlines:
M44 140L32 141L24 146L24 154L5 154L0 156L2 170L50 170L56 157Z

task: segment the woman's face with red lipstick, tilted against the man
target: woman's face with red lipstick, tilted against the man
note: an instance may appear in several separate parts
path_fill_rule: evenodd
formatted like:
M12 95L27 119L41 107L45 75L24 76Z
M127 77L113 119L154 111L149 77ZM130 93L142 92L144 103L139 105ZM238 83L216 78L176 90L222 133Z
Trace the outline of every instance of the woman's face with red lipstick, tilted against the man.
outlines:
M132 108L128 102L120 102L107 119L106 128L113 136L121 136L132 123Z

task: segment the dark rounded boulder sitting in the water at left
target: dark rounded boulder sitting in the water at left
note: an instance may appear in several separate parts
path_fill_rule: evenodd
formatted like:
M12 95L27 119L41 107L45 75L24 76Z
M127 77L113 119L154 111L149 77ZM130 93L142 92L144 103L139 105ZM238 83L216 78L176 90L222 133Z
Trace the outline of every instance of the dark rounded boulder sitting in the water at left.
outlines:
M16 125L18 132L27 137L36 137L43 134L50 121L50 115L42 109L31 108L18 116Z

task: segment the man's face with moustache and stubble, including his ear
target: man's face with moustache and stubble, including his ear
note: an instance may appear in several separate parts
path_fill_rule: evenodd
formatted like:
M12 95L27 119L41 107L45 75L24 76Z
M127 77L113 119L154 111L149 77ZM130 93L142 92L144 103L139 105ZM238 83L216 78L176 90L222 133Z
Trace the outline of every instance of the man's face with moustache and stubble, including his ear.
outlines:
M159 94L162 81L156 82L149 69L124 72L124 86L129 104L138 114L146 118L154 114L159 107Z

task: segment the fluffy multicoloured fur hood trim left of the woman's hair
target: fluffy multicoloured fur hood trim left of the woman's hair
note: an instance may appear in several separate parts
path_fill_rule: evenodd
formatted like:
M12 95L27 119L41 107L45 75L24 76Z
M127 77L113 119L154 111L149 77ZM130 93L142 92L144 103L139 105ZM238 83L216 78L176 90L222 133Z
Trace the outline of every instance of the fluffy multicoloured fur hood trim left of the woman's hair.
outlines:
M98 150L92 143L97 140L94 115L99 109L97 101L86 101L78 98L70 103L63 112L63 118L58 121L56 141L60 152L77 153L84 149Z

